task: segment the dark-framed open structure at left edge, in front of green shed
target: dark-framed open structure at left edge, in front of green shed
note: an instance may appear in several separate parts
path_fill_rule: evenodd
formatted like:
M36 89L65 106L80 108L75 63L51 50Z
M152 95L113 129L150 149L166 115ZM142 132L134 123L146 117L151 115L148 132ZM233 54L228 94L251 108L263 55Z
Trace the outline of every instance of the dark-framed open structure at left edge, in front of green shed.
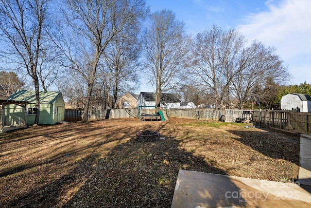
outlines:
M7 132L16 129L22 129L27 127L27 103L28 101L20 101L20 100L0 100L1 104L1 112L0 112L0 132ZM16 113L9 113L8 110L5 112L8 105L12 106L20 106L22 109ZM10 106L11 107L11 106Z

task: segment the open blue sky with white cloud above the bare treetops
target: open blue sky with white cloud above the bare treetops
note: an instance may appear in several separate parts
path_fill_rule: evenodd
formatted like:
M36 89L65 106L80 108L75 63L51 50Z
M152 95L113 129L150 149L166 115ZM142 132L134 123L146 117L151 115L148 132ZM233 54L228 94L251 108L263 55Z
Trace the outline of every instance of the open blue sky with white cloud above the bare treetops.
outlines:
M146 0L153 13L172 10L189 34L236 29L251 42L276 48L293 78L284 84L311 83L311 0ZM141 86L141 91L154 91Z

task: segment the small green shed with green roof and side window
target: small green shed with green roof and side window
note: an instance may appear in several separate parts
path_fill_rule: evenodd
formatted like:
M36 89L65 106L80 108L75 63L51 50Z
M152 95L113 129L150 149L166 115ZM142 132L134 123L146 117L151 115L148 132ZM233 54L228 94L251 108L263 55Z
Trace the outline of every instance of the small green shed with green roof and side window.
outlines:
M39 125L55 124L65 119L65 102L61 92L41 91L40 97L40 116ZM35 91L33 90L16 90L10 95L7 100L19 100L27 103L26 119L27 125L33 125L35 122ZM10 116L16 112L21 112L22 107L17 105L7 105L4 112L8 115L5 119L7 122L12 122L13 118ZM14 121L13 121L14 122Z

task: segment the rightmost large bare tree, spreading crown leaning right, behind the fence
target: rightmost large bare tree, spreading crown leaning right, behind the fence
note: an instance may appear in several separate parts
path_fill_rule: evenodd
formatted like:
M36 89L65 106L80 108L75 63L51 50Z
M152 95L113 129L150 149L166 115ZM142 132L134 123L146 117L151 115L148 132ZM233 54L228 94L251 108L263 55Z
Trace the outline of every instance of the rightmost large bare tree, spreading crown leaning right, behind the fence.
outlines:
M275 54L275 49L256 41L243 49L239 65L242 70L234 77L232 92L240 103L240 109L243 109L251 95L253 98L264 96L256 92L259 92L269 79L278 84L291 77L287 68L282 66L282 60Z

